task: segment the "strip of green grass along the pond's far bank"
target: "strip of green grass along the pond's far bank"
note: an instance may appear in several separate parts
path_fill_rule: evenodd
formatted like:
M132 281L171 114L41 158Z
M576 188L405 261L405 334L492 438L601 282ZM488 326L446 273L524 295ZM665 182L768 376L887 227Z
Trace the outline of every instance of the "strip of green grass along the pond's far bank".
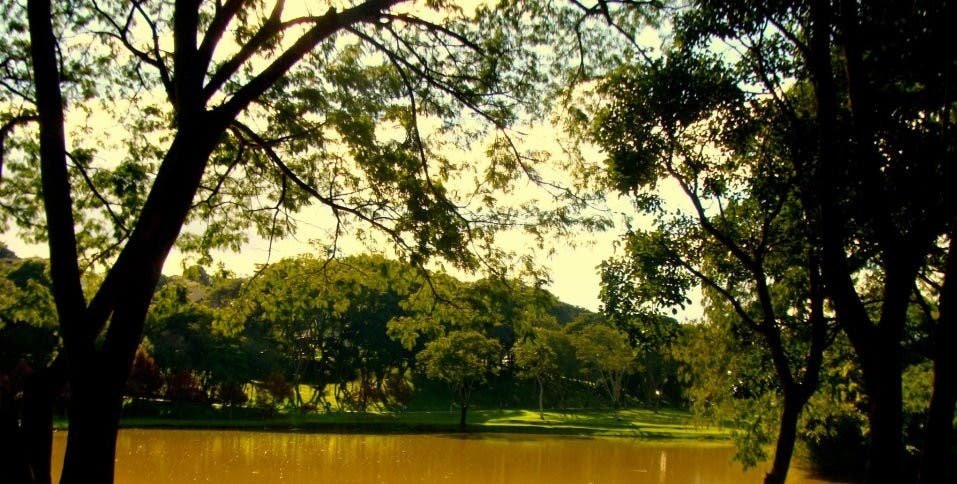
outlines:
M244 429L355 433L446 433L462 431L457 411L395 413L279 414L264 418L129 417L125 428ZM65 422L59 427L64 428ZM725 440L727 429L695 425L687 412L662 409L577 410L545 412L542 420L533 410L470 410L465 432L501 432L571 436L631 437L647 440Z

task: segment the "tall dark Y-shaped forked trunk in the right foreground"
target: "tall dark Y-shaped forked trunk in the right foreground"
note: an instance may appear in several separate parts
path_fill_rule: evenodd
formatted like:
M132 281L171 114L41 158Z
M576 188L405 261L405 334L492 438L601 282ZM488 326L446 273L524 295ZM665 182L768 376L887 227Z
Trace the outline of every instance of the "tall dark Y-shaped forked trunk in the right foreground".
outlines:
M834 20L831 8L830 2L825 0L811 4L809 68L817 103L819 147L810 177L812 184L806 187L813 199L812 206L807 208L810 209L810 218L817 221L821 236L822 276L827 295L854 347L865 380L871 429L868 482L900 482L903 457L901 337L909 291L916 276L916 265L911 264L909 257L912 256L908 253L918 252L916 249L919 248L903 250L900 237L883 234L879 242L885 284L880 324L875 325L854 286L845 252L847 220L837 203L844 176L842 169L849 166L848 156L852 153L841 147L836 135L838 96L831 59ZM860 135L860 131L856 134ZM857 140L858 145L867 145L868 142L866 139ZM864 189L866 193L876 193L878 187L873 186L873 177L865 177L864 182L869 184Z

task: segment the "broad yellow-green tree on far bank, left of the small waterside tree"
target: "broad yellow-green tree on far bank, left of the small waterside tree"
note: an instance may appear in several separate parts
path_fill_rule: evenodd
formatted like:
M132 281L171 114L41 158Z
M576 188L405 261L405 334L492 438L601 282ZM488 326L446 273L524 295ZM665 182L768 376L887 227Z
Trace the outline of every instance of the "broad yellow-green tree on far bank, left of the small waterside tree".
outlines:
M386 324L405 314L401 305L423 286L411 266L383 257L302 256L263 270L222 319L233 332L265 340L282 360L297 405L305 403L300 384L312 385L314 398L335 384L337 395L346 391L340 403L364 411L393 370L408 369L411 354L387 336ZM348 398L357 379L355 398Z

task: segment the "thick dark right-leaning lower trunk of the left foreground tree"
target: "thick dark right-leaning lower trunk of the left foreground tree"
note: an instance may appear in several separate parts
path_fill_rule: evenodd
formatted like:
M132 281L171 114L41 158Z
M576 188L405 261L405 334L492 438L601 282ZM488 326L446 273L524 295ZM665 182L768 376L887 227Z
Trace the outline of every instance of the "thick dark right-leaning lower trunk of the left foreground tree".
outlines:
M174 139L130 240L94 299L112 307L112 317L102 348L88 358L71 360L70 432L61 483L112 482L123 388L146 311L206 162L225 129L215 123L202 126L204 119L196 115ZM90 312L92 308L93 303Z

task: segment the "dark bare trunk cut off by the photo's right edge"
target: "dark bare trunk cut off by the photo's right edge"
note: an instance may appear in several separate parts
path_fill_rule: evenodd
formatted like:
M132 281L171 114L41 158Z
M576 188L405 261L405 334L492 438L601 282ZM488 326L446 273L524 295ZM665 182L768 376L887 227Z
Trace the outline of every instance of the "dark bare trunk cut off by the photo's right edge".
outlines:
M937 324L934 328L934 387L927 415L926 435L921 450L919 481L925 484L953 478L950 456L954 439L954 406L957 405L957 326L954 301L957 298L957 220L951 226L950 247L944 269Z

